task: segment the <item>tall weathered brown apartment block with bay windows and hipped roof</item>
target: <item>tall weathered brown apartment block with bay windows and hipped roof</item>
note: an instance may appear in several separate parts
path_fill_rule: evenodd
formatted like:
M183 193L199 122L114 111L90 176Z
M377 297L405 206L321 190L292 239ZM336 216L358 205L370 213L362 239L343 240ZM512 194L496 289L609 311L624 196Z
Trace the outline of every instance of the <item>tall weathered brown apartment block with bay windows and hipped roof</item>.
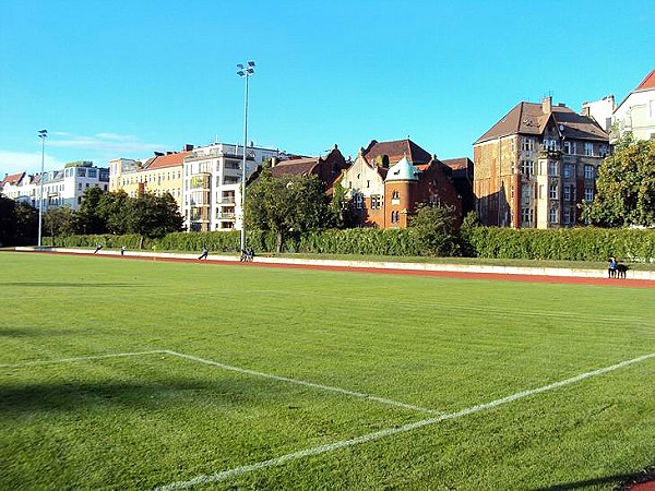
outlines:
M474 193L485 225L558 228L591 202L609 135L563 104L519 103L474 143Z

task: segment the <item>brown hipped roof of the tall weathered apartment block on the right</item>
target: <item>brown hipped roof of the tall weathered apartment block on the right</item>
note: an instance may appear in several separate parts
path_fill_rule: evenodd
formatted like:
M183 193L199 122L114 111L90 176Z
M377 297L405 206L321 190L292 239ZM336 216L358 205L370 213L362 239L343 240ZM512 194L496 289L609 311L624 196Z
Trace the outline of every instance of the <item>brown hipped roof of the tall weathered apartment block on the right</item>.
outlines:
M541 104L519 103L477 139L474 145L512 134L539 135L544 133L551 118L558 128L562 127L560 132L564 136L583 140L608 139L607 133L593 118L579 115L564 105L552 106L551 112L544 112Z

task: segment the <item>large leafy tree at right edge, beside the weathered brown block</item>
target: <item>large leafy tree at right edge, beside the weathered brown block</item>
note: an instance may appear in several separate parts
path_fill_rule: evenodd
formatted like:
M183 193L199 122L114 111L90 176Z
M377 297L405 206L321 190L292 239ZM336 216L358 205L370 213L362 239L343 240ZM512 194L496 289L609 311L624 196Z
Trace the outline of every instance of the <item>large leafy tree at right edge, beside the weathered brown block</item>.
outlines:
M593 203L582 207L594 225L655 226L655 141L622 137L600 165Z

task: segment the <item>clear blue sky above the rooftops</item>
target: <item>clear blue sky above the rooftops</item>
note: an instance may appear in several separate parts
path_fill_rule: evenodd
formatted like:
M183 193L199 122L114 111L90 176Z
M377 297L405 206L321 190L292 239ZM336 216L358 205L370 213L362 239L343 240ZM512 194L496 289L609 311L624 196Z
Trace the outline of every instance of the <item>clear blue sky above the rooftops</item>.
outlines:
M521 100L622 100L655 2L0 0L0 177L243 139L305 155L409 136L441 159Z

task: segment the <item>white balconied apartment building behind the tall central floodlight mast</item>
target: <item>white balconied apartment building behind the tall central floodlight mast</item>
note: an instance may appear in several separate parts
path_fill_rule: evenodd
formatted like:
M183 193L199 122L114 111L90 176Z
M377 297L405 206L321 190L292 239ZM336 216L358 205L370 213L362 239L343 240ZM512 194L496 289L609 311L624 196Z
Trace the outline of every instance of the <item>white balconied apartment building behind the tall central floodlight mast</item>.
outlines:
M246 176L270 158L284 160L285 152L249 146ZM243 146L215 143L194 148L184 157L184 227L190 231L241 229L241 165Z

